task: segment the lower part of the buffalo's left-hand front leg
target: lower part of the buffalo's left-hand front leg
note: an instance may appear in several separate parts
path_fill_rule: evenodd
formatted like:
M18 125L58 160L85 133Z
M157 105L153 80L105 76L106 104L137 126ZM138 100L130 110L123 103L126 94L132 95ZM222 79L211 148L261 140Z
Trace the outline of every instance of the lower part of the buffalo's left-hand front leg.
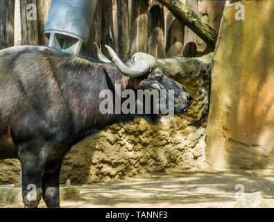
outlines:
M37 208L42 197L43 156L31 152L22 154L22 196L26 208Z

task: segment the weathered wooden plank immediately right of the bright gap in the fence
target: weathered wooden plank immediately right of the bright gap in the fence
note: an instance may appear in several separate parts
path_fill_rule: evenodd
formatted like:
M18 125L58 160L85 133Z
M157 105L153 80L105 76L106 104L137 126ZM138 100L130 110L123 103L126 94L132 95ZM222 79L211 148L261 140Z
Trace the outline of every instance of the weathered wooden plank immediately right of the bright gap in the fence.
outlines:
M28 6L31 6L29 4L34 4L36 8L28 8ZM38 22L31 10L37 15L36 0L21 0L22 45L39 44ZM34 19L30 19L31 17Z

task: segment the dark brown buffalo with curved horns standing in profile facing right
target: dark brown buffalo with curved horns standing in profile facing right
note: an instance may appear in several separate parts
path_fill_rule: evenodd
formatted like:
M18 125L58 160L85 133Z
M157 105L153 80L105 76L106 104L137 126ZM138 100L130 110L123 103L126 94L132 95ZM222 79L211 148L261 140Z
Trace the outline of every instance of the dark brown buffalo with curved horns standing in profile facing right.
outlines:
M0 159L19 158L25 207L60 207L59 173L71 146L105 126L160 114L101 114L99 93L122 89L174 89L175 113L191 104L187 89L167 78L155 58L137 53L126 67L78 58L45 46L15 46L0 51ZM131 61L131 62L130 62ZM35 199L28 198L35 185Z

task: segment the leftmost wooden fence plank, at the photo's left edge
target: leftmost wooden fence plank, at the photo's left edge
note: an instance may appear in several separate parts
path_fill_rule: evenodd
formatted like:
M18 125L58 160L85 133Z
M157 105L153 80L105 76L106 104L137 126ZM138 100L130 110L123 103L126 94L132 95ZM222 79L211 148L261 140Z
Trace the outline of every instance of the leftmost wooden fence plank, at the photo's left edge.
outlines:
M0 50L14 45L15 1L0 1Z

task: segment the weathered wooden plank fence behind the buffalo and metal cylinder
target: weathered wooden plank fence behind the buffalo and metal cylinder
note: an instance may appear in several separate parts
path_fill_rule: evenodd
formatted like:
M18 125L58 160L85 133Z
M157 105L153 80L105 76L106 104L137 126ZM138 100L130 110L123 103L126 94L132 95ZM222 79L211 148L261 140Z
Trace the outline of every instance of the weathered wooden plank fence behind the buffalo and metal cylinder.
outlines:
M182 0L193 4L196 0ZM37 8L37 19L28 20L28 4ZM15 12L15 8L19 8ZM0 0L0 49L17 44L46 44L44 27L51 0ZM195 6L194 6L195 9ZM16 23L19 22L19 28ZM17 24L18 26L18 24ZM19 33L18 33L19 32ZM15 40L19 36L20 40ZM155 0L99 1L88 43L83 53L94 55L93 42L108 44L121 58L137 51L151 53L156 58L182 56L185 43L194 40L181 22ZM187 40L187 42L186 42ZM105 47L102 47L106 55Z

